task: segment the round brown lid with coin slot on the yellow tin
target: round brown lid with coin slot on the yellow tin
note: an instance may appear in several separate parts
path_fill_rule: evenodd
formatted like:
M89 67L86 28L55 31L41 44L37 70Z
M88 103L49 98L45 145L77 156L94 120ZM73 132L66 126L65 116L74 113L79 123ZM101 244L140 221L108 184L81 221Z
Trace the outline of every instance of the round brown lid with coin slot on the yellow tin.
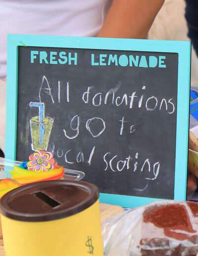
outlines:
M37 182L4 194L0 199L0 212L20 221L56 220L85 210L98 198L98 189L91 183Z

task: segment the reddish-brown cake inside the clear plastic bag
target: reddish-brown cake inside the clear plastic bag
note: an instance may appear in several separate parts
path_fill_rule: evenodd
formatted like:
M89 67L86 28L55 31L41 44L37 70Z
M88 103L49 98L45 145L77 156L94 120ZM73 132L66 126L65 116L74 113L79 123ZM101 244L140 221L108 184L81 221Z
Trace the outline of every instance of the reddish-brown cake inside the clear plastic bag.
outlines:
M156 202L146 207L140 249L142 256L196 256L198 203Z

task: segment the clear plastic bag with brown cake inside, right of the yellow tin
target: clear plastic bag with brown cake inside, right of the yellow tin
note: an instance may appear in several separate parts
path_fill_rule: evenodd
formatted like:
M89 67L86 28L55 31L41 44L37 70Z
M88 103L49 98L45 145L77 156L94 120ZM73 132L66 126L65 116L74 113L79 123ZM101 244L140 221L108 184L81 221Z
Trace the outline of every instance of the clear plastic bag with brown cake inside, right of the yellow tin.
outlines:
M198 202L155 201L102 223L104 256L196 256Z

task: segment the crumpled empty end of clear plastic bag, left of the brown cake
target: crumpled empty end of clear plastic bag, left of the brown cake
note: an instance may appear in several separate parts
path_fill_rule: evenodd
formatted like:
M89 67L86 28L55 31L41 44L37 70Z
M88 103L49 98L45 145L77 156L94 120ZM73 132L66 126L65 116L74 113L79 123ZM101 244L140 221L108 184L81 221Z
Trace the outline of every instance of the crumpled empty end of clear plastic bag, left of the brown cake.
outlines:
M102 223L104 256L140 256L136 245L144 207L136 207Z

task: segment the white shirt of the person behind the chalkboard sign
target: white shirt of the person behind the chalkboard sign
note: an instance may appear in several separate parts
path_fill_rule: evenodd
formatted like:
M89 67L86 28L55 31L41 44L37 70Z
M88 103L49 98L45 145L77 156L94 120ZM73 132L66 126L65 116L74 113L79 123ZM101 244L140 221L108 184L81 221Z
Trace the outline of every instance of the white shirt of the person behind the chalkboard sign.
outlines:
M7 34L96 36L112 0L0 0L0 78Z

